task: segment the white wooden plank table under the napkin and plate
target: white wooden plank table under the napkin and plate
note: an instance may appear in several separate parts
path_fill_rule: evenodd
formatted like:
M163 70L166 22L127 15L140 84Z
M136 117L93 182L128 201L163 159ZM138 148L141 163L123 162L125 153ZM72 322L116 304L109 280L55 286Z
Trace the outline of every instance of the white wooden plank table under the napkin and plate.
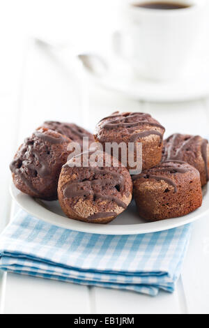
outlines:
M31 45L29 45L31 47ZM149 112L175 132L208 134L209 100L189 103L146 103L88 85L84 103L54 57L29 48L17 94L0 93L1 221L17 210L8 193L8 163L17 144L45 119L75 121L86 128L115 111ZM74 89L72 89L74 88ZM209 86L208 86L209 88ZM42 278L0 274L1 313L209 313L209 218L194 223L183 272L173 294L148 297L135 292L86 287Z

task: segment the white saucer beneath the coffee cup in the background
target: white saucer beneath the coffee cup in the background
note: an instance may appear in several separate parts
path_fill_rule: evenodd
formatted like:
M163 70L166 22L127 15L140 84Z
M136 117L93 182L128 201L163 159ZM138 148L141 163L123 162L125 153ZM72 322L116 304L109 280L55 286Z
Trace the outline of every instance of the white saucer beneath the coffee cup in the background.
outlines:
M88 77L105 89L121 92L132 99L151 102L177 102L196 100L209 96L208 61L199 59L199 65L187 67L180 80L157 82L134 76L132 69L123 60L111 58L107 74Z

